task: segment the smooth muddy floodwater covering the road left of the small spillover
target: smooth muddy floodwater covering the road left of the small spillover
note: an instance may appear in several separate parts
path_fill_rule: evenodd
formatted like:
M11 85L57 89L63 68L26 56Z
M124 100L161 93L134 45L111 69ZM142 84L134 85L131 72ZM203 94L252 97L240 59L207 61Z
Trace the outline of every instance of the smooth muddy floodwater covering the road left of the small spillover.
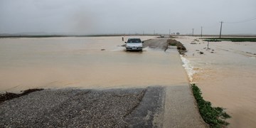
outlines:
M145 41L154 37L140 38ZM126 52L124 41L121 36L1 38L0 91L188 83L175 48Z

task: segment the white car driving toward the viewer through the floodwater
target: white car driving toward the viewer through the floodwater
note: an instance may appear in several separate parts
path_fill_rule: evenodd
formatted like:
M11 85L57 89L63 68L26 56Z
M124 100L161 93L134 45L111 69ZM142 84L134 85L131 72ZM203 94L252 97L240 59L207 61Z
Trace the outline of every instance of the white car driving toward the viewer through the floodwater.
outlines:
M129 38L127 42L125 42L127 50L140 50L142 51L142 43L144 43L140 38Z

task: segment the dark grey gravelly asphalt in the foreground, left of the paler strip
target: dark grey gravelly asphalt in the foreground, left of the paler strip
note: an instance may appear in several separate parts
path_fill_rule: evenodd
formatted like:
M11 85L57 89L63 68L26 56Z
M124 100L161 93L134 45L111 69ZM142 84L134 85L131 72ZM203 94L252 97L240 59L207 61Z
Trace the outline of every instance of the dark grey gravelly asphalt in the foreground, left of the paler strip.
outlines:
M32 92L0 105L0 127L161 127L163 95L163 87Z

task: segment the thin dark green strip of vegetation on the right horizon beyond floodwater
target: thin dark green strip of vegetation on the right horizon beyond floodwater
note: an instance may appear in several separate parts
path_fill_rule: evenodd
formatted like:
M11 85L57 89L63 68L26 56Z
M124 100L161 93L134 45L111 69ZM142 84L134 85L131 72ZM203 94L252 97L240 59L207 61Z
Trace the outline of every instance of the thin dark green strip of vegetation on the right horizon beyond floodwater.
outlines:
M201 38L203 41L219 42L219 41L232 41L232 42L256 42L256 38Z

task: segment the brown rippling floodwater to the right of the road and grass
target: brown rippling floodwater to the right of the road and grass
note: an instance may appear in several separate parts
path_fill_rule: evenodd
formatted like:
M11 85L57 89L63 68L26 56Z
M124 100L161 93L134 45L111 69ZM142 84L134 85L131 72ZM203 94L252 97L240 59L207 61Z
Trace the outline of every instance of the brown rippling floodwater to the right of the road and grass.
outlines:
M256 43L210 42L206 50L207 42L190 44L193 39L178 41L188 49L185 58L196 73L192 82L201 88L204 99L227 108L232 116L228 127L256 127Z

